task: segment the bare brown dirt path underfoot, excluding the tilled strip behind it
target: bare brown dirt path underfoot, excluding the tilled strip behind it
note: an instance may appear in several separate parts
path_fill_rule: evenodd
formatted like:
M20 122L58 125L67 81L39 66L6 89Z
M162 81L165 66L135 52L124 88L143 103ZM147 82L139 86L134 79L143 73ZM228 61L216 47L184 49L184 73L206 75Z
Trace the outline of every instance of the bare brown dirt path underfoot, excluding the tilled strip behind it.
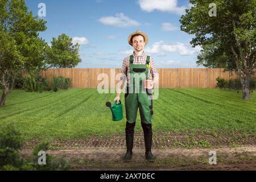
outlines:
M216 151L217 165L209 165L209 152ZM23 150L22 154L31 154ZM197 170L197 169L237 169L256 170L256 146L221 147L221 148L169 148L152 150L155 163L144 159L144 150L134 148L133 159L129 163L122 160L123 148L67 148L49 150L48 154L64 156L72 162L72 169L99 170Z

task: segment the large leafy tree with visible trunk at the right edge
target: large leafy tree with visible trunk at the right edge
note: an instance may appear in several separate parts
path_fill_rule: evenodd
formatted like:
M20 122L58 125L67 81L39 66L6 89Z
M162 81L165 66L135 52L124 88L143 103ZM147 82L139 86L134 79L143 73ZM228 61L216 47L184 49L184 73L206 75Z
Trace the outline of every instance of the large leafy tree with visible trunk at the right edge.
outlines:
M190 0L191 9L180 18L181 30L195 34L193 47L202 46L197 64L236 72L242 98L250 99L250 80L256 69L256 0L216 0L216 16L208 0Z

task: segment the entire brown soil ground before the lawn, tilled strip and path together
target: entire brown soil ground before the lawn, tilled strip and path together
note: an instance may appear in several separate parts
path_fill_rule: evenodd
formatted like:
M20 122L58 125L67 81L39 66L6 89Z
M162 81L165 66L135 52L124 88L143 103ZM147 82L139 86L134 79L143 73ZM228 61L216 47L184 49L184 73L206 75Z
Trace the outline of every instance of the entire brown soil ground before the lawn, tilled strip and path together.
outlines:
M39 140L23 146L29 156ZM122 160L126 152L125 137L93 136L88 139L53 140L48 154L64 156L73 170L255 170L256 138L253 135L203 133L156 133L152 141L154 163L144 159L142 133L134 137L134 155L129 163ZM209 152L216 152L217 165L209 164Z

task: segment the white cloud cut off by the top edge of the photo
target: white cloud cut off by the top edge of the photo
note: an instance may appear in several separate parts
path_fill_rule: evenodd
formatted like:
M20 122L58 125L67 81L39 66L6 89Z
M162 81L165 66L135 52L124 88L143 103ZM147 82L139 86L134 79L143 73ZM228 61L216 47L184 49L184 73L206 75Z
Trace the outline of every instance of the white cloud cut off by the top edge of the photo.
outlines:
M177 7L177 0L139 0L138 3L142 10L149 13L154 10L159 10L181 15L185 13L186 9L185 6Z

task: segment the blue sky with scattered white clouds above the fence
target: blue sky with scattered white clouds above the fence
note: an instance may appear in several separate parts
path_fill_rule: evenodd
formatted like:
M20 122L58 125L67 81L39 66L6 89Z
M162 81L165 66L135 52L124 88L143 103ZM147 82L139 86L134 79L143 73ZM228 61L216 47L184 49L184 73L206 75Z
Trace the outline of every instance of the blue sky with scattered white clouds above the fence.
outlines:
M38 15L39 3L46 5L47 30L40 36L49 44L53 37L67 34L80 43L82 62L76 68L121 68L133 52L127 37L136 30L145 32L144 48L157 68L197 67L200 47L189 44L193 35L180 31L179 19L188 1L176 0L26 0Z

